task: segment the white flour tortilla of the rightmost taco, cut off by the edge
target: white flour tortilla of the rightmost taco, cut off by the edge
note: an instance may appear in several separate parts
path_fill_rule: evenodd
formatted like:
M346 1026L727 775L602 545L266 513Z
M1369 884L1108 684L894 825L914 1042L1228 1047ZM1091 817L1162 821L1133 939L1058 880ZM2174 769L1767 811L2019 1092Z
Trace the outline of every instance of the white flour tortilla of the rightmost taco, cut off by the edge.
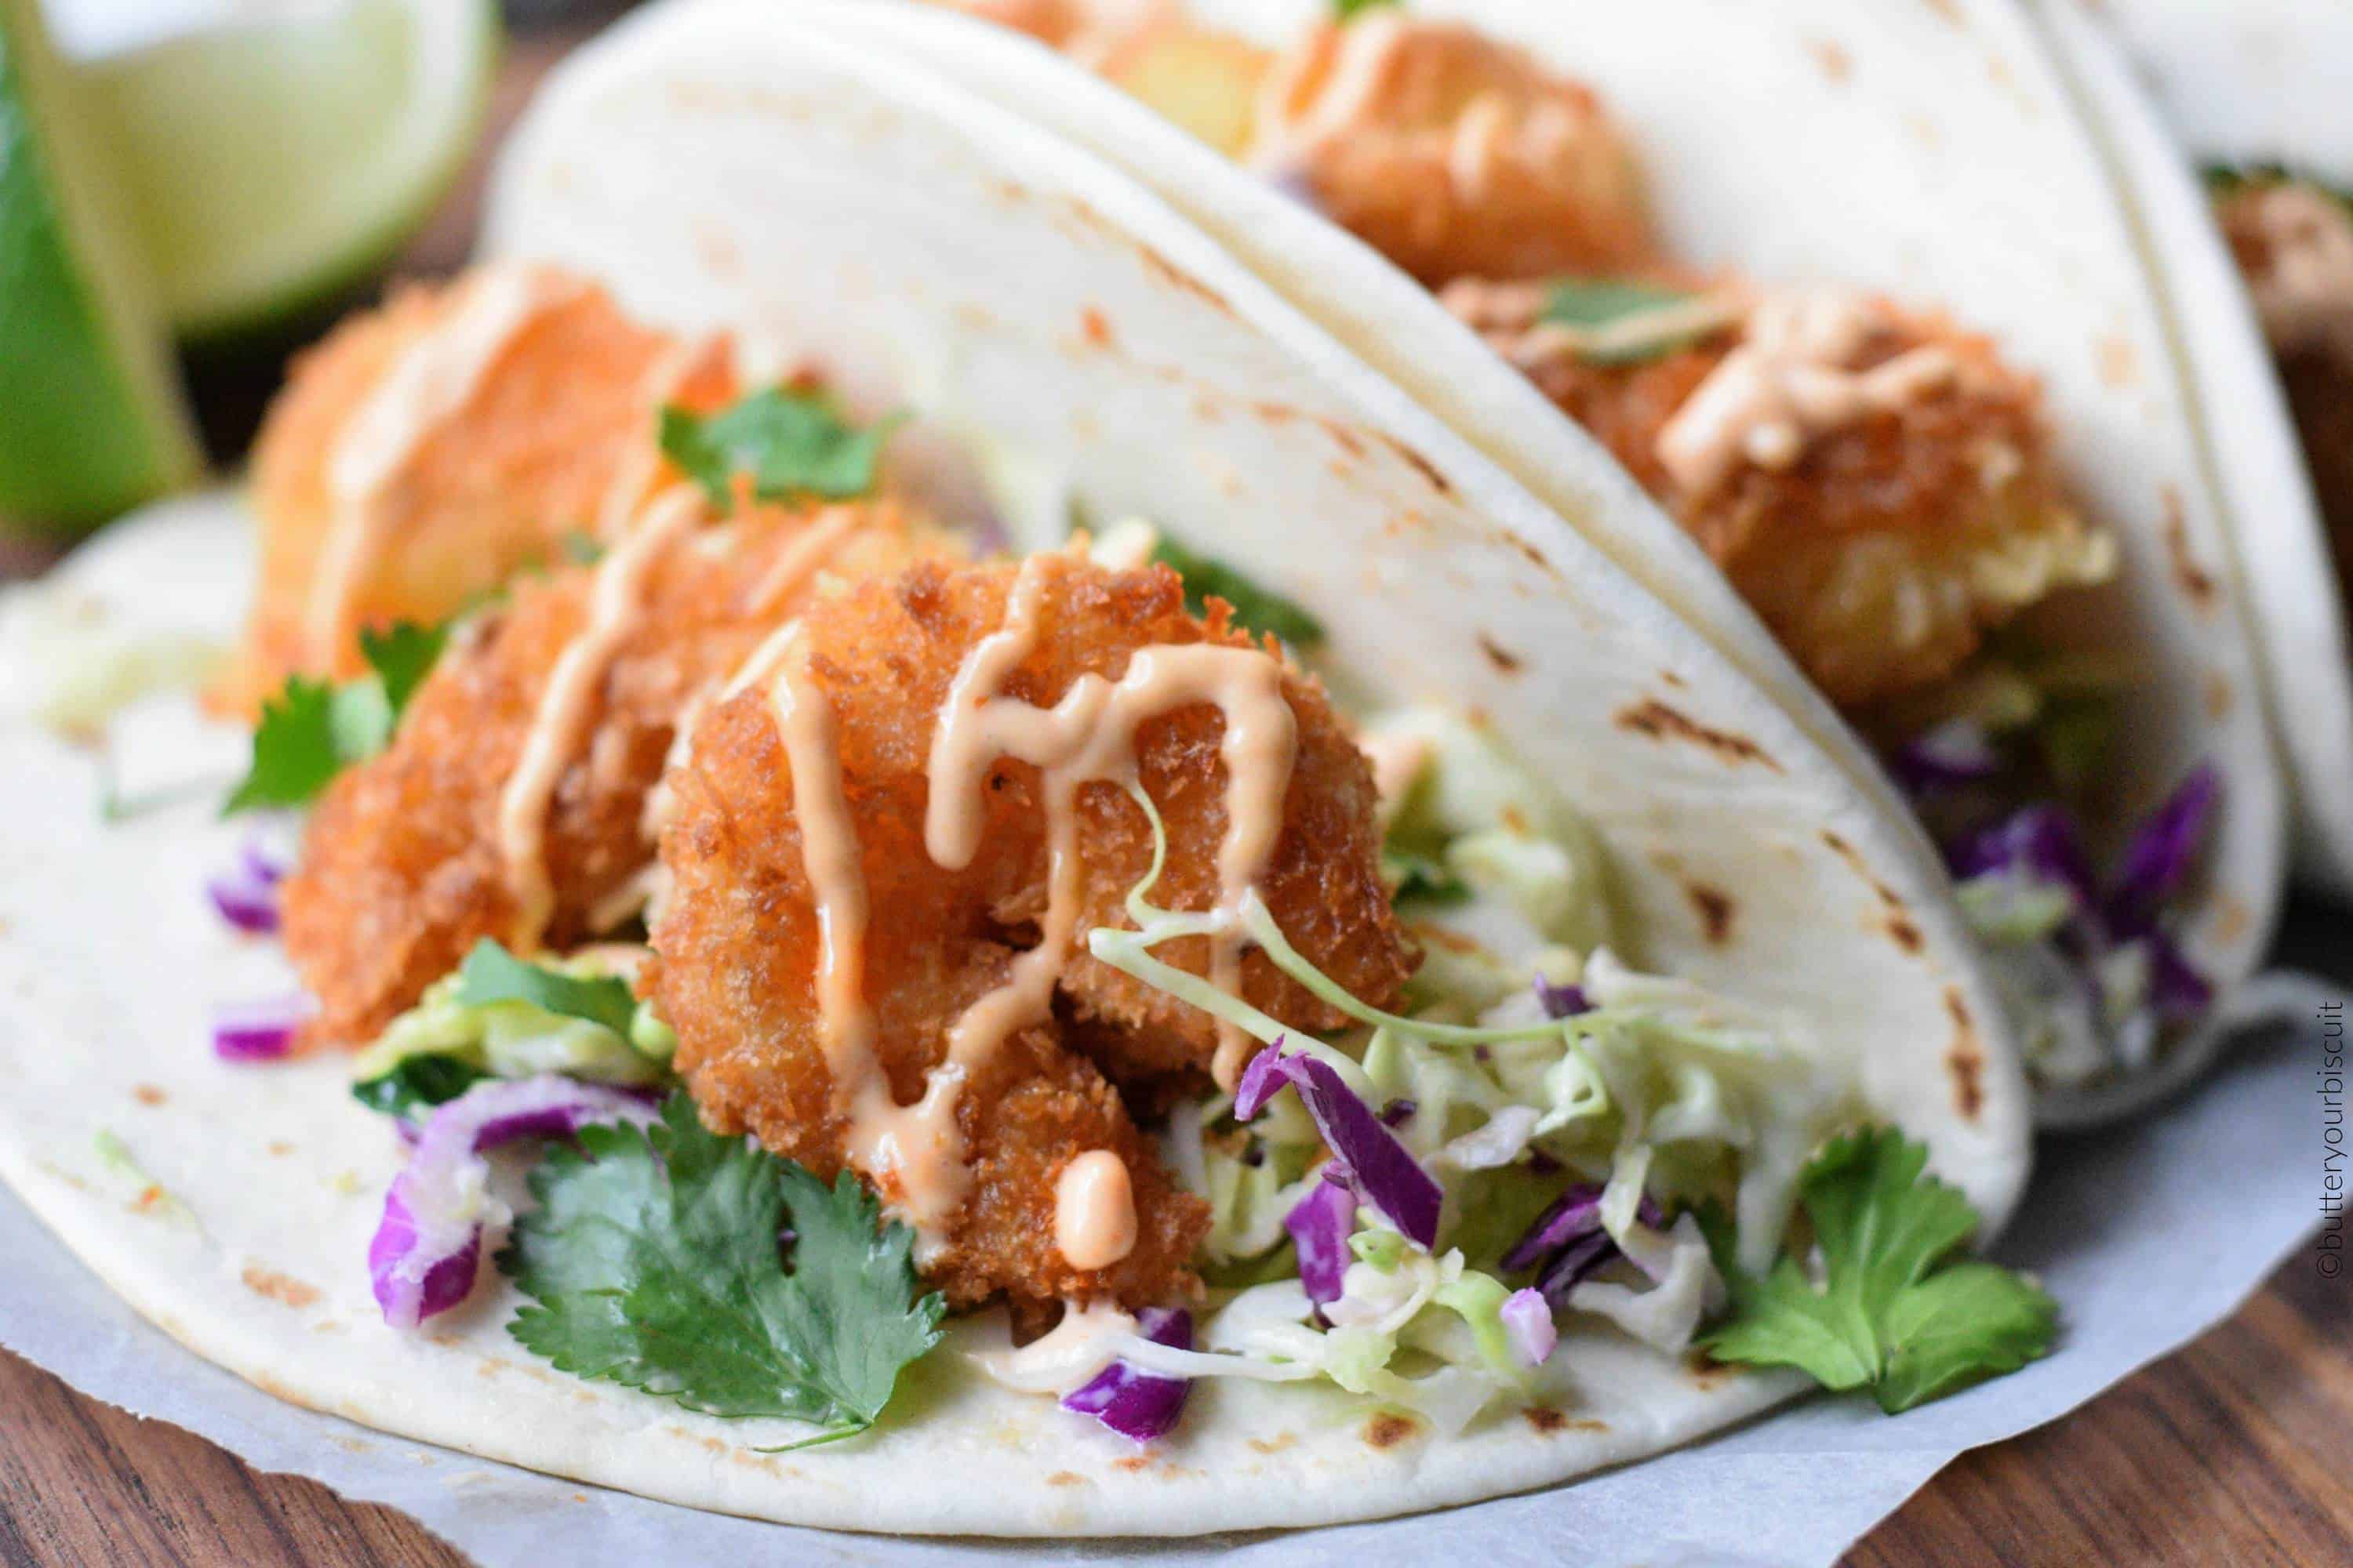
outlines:
M2297 792L2294 872L2353 898L2348 585L2337 581L2271 346L2191 165L2191 158L2285 162L2353 186L2346 113L2353 9L2292 0L2115 7L2115 31L2151 68L2191 158L2158 122L2106 28L2075 5L2045 5L2038 14L2101 129L2101 150L2127 190L2151 266L2167 282L2181 348L2205 393L2205 435L2231 503Z

